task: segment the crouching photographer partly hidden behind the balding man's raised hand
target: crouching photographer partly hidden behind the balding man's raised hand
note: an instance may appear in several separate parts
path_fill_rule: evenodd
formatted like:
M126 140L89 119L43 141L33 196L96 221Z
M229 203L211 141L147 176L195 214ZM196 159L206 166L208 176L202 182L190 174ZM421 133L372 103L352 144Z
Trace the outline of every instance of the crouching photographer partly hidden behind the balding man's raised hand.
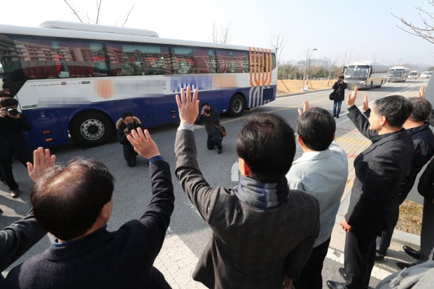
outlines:
M123 145L124 158L127 161L128 167L134 167L137 163L137 153L132 147L127 135L133 129L141 127L139 118L136 118L130 111L122 113L122 117L116 122L116 131L118 132L118 141Z

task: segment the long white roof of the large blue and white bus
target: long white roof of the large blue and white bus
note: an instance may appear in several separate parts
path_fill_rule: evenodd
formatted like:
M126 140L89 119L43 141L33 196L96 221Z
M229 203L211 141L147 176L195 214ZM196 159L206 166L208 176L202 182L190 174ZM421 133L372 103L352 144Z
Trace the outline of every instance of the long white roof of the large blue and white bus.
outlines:
M45 24L44 24L45 23ZM50 26L55 24L50 23L61 23L61 21L48 21L43 22L44 26ZM63 22L65 23L65 22ZM68 22L66 22L68 23ZM71 23L71 22L69 22ZM232 49L232 50L249 50L248 46L241 45L229 45L229 44L221 44L221 43L208 43L208 42L200 42L200 41L186 41L179 39L168 39L168 38L160 38L157 36L143 36L137 33L132 34L128 31L135 31L141 29L132 29L124 27L111 27L111 26L103 26L99 27L99 24L84 24L83 27L86 29L78 29L82 23L74 23L73 28L68 28L68 24L64 24L65 28L46 28L46 27L23 27L23 26L15 26L15 25L6 25L0 24L0 34L15 34L15 35L23 35L23 36L46 36L46 37L62 37L62 38L78 38L78 39L94 39L94 40L102 40L102 41L127 41L134 43L155 43L155 44L172 44L172 45L184 45L184 46L198 46L204 48L220 48L220 49ZM58 25L57 25L58 26ZM93 27L93 28L91 28ZM111 29L109 32L107 29ZM121 32L120 32L121 31ZM143 32L146 30L142 30ZM149 32L149 31L148 31ZM150 31L153 32L153 31ZM155 33L155 32L154 32ZM155 33L156 34L156 33ZM157 34L158 35L158 34ZM276 50L269 48L255 48L258 50L267 50L271 52L276 52Z

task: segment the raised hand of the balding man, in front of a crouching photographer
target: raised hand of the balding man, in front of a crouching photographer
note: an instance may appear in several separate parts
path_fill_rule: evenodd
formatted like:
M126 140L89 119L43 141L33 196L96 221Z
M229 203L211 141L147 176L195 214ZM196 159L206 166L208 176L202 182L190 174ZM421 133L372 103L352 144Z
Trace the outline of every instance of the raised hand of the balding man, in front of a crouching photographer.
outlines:
M160 150L158 150L157 144L151 138L148 129L143 130L141 127L132 129L131 133L127 135L127 139L134 147L134 150L148 160L151 157L160 155Z

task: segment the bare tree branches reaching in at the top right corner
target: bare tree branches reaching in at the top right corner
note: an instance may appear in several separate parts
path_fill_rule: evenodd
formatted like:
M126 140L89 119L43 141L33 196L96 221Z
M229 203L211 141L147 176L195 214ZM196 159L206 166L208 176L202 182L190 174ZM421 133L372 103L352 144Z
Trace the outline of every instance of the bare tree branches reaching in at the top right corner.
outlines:
M427 2L430 6L433 6L434 8L434 0L427 0ZM434 44L434 25L433 25L434 13L426 9L423 9L421 6L417 6L416 10L419 11L419 16L421 17L422 24L420 25L412 24L407 20L405 20L403 17L398 17L392 13L393 17L400 20L400 22L402 22L402 24L405 24L406 26L405 28L399 26L397 27L402 31L405 31L414 36L421 37L426 41Z

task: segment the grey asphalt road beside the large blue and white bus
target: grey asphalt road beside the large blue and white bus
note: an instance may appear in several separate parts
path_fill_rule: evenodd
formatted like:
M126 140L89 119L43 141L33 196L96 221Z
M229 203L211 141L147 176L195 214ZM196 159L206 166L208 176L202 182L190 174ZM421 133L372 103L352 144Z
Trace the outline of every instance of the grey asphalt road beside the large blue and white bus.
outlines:
M426 83L426 81L427 80L409 80L407 83L403 84L387 83L384 87L365 92L368 94L369 101L374 101L388 94L399 94L402 91L409 90L409 87L414 87L414 85L420 86L422 83ZM265 111L278 113L283 116L283 118L286 118L292 127L295 127L297 108L302 108L302 101L304 99L308 99L311 106L321 106L331 112L332 101L328 99L328 94L330 94L330 91L327 90L279 97L276 101L266 106L256 108L254 111L246 111L246 113L239 118L228 118L222 115L222 123L228 132L228 136L226 136L223 141L222 155L218 155L217 150L207 150L206 132L203 127L197 127L197 129L195 129L195 136L198 160L200 169L209 184L211 186L220 185L224 187L232 187L235 185L233 174L231 178L232 166L237 162L235 140L237 139L237 134L241 126L249 115ZM360 105L362 100L363 92L359 92L357 104ZM342 113L345 111L346 105L342 104ZM172 124L149 129L155 143L157 143L160 148L160 153L165 157L165 160L169 162L172 172L174 169L173 148L176 127L177 125ZM113 194L113 215L109 221L109 229L116 230L127 220L141 216L146 204L148 204L151 190L146 160L140 159L139 157L137 167L127 167L123 159L122 146L115 141L96 148L78 148L72 145L62 146L52 149L52 153L57 155L57 162L66 162L71 159L71 157L92 157L104 162L104 164L109 167L111 173L116 178L116 187ZM297 154L300 155L300 153L301 152L298 152ZM3 211L5 211L5 216L0 217L0 227L4 227L22 218L29 210L29 188L31 186L31 180L27 176L27 171L20 163L15 162L13 170L16 180L20 184L22 194L18 199L11 199L7 187L4 185L0 187L0 204ZM190 204L190 201L183 194L174 174L172 174L172 176L176 202L170 227L172 232L177 234L195 255L199 256L204 246L207 244L211 232L207 224L204 223L197 211ZM42 252L45 248L50 246L50 242L50 237L44 237L36 246L31 248L28 253L18 260L18 262L15 262L15 265L29 258L31 255ZM327 259L324 266L325 280L341 280L337 274L337 268L340 266L342 265L340 265L339 262ZM371 286L373 286L374 283L377 283L377 281L373 280Z

